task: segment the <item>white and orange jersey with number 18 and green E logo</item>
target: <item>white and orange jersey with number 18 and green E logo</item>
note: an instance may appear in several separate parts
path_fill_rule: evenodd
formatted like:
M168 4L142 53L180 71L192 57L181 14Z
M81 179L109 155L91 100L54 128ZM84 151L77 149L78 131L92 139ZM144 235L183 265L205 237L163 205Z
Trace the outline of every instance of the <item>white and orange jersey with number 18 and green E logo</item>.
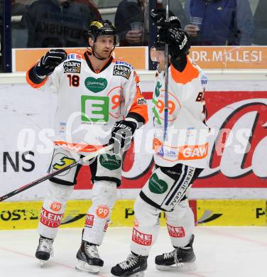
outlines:
M34 88L58 94L55 113L55 145L87 152L109 142L116 121L129 113L148 120L147 104L139 89L138 75L128 63L109 58L95 72L91 53L71 53L54 72Z

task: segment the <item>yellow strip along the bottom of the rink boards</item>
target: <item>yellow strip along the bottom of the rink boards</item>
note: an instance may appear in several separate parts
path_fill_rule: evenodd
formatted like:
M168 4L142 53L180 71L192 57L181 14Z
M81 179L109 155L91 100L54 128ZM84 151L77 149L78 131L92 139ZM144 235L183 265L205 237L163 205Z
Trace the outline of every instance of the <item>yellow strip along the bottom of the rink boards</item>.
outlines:
M117 200L109 227L133 225L134 200ZM67 202L60 228L83 227L89 200ZM42 202L0 203L0 229L35 229ZM267 226L266 200L190 200L197 226ZM165 214L160 214L160 225L165 225Z

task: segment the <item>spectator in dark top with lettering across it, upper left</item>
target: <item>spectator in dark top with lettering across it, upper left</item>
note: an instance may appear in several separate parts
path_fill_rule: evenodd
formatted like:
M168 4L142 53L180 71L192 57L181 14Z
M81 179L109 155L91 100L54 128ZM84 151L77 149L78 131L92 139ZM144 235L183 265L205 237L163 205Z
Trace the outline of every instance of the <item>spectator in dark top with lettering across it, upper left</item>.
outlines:
M83 47L86 30L101 19L89 0L37 0L28 7L22 25L28 29L29 48Z

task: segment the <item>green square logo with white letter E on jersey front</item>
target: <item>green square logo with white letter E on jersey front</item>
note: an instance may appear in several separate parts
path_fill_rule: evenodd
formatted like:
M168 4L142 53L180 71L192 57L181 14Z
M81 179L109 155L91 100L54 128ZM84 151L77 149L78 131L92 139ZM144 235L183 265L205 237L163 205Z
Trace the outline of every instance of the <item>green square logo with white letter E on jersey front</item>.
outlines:
M82 95L82 121L109 121L109 97Z

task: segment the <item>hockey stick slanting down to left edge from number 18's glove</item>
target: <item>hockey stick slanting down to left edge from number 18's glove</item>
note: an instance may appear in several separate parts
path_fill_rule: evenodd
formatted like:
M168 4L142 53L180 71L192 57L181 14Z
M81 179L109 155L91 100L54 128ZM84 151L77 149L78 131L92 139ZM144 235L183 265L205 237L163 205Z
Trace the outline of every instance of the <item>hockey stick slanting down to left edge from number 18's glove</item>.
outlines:
M51 173L48 173L47 175L37 179L37 180L34 180L33 182L31 183L28 183L26 185L23 185L21 188L18 188L16 190L13 190L11 192L9 192L8 194L6 195L3 195L0 197L0 202L1 201L4 201L6 199L8 199L9 197L12 197L13 195L17 195L18 193L22 192L23 190L28 190L28 188L31 188L33 187L34 185L38 185L40 183L42 183L43 181L45 180L48 180L49 178L55 176L55 175L58 175L70 168L73 168L74 166L78 165L78 164L83 164L85 163L86 161L89 161L91 160L92 158L94 157L97 157L99 156L100 154L103 154L103 153L106 153L107 151L111 150L113 148L113 144L109 144L108 146L105 146L95 152L92 152L92 153L89 153L87 156L83 157L83 158L80 158L79 160L75 161L74 163L71 163L70 165L66 165L65 167L63 168L60 168L59 170L56 170L54 172L51 172Z

